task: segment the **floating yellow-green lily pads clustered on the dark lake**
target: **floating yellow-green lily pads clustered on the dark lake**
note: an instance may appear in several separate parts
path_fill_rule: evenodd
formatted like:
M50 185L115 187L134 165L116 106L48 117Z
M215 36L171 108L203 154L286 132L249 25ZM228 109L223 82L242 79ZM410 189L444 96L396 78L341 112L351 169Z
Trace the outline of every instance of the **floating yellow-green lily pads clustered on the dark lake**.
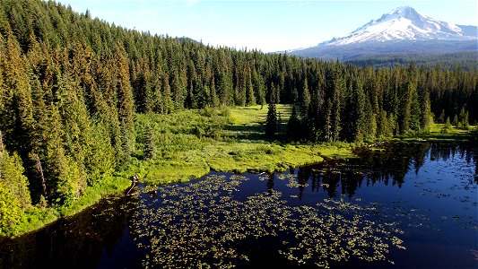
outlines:
M295 182L293 175L282 177ZM211 176L159 187L153 199L140 199L131 231L149 254L143 266L230 268L248 262L244 242L266 237L283 239L278 252L284 258L319 267L352 256L387 260L390 247L404 248L397 222L373 221L376 204L326 199L292 206L274 190L239 199L246 180Z

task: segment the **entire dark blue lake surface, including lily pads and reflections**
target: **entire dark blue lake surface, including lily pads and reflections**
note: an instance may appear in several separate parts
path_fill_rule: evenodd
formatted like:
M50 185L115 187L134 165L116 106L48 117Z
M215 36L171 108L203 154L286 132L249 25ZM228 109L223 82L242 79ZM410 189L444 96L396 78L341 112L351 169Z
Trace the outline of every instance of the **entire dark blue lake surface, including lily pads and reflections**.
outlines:
M384 148L284 174L142 186L0 239L0 267L478 268L476 146Z

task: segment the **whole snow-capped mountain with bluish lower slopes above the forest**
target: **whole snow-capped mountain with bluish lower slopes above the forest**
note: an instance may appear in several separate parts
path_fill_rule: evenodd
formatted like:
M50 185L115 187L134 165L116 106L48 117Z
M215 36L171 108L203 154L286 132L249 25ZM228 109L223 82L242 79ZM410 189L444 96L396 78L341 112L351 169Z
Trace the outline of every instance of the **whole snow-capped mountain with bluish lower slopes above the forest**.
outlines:
M441 22L404 6L366 23L346 37L287 53L347 61L363 57L439 56L462 52L474 59L478 57L478 27Z

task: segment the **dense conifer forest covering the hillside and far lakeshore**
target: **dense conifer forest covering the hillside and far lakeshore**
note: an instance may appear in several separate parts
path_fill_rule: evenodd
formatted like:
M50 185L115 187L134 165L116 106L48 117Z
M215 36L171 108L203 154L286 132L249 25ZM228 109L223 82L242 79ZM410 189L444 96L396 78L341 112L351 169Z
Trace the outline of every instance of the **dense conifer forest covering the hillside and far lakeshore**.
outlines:
M134 158L135 113L293 103L299 139L361 141L478 118L478 72L357 67L126 30L0 0L0 227L72 204Z

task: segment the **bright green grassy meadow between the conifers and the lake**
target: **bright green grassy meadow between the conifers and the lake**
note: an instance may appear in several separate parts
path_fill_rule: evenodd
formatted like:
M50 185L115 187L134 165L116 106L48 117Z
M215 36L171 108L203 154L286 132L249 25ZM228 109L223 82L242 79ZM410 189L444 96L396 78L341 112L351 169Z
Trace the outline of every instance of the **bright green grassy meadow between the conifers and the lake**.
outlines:
M277 106L279 137L287 128L291 107ZM266 106L185 110L172 115L136 115L137 160L125 169L152 184L184 181L215 171L273 172L352 157L349 143L283 144L264 139ZM147 130L154 136L146 138ZM155 158L144 151L153 141Z

